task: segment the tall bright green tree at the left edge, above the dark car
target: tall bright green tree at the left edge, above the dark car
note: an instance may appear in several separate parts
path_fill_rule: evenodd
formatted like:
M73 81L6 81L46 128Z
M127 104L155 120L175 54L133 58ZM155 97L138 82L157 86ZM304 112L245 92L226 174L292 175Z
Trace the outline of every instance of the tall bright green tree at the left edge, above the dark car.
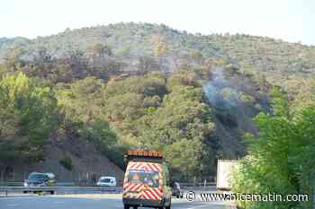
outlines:
M20 73L4 76L0 96L0 147L11 157L40 160L43 144L58 126L53 91Z

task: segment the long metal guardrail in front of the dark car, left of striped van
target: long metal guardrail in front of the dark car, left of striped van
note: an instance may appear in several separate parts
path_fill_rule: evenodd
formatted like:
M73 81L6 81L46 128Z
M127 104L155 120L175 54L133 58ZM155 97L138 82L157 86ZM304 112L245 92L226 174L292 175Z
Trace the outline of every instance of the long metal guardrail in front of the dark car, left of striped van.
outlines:
M0 194L44 193L49 194L108 194L121 193L121 187L0 187Z

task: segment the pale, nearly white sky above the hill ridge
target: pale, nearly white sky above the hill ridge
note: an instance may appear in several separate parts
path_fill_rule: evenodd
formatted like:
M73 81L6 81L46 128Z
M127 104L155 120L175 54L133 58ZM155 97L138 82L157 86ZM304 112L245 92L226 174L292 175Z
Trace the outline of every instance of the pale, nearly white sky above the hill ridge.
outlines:
M67 28L150 22L315 46L313 11L314 0L0 0L0 37L32 39Z

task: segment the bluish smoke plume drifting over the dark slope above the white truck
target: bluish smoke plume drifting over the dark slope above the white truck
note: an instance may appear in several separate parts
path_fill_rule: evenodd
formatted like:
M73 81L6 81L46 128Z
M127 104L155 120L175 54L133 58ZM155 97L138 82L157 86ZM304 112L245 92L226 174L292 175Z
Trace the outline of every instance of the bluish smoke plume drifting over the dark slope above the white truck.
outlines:
M266 95L244 75L231 74L225 68L211 72L203 91L216 125L217 154L228 159L243 156L246 145L242 139L245 133L257 135L253 118L268 108Z

